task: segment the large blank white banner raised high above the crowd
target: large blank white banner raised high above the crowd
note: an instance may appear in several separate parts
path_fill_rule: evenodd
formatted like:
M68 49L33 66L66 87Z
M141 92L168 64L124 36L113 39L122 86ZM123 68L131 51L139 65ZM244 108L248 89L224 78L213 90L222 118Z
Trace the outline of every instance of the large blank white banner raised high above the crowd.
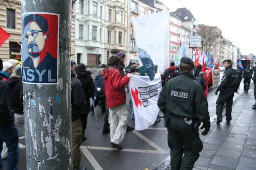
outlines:
M169 68L169 12L133 17L137 47L144 49L163 74Z

